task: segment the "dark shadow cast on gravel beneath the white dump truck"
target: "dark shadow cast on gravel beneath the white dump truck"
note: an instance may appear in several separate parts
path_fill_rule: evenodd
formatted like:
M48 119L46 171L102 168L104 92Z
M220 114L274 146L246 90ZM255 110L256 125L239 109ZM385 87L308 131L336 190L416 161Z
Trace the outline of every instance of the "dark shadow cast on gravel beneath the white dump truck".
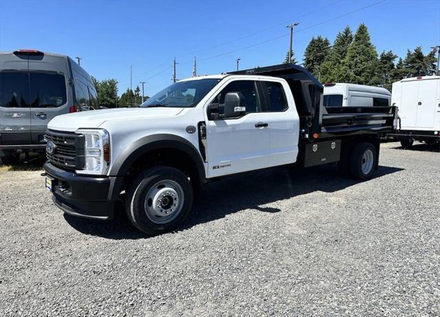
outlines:
M375 178L399 171L402 171L402 168L379 166ZM280 212L278 208L264 205L315 191L334 193L359 182L341 177L336 166L316 166L307 169L281 166L226 177L210 183L206 193L201 195L201 199L195 204L184 226L177 231L221 219L243 209L266 213ZM148 237L131 225L122 204L117 209L118 215L113 221L94 221L69 215L65 215L65 219L70 226L80 232L107 239Z

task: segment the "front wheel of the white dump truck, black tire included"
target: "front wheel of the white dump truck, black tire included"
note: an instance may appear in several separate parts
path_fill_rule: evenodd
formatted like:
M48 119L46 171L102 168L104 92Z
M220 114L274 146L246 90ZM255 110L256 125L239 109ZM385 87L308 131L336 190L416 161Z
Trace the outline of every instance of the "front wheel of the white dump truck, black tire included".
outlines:
M157 186L157 184L160 185ZM161 187L162 184L169 185ZM163 192L163 190L167 190L167 188L170 191ZM161 191L164 194L160 194ZM167 194L166 197L162 197L162 195L165 194ZM179 198L177 201L178 205L160 205L161 208L159 208L159 205L155 208L156 204L152 206L153 201L157 201L156 199L159 199L159 201L161 199L167 199L167 201L169 200L171 204L173 204L173 202L175 202L173 199L176 198L171 197L172 194L175 194L173 196ZM151 195L154 196L154 198L151 198ZM183 197L183 199L181 197ZM125 199L126 214L131 223L140 231L148 235L162 234L177 228L177 226L185 221L191 211L193 197L194 194L191 183L184 173L177 168L155 166L148 168L138 175L127 189ZM159 204L159 202L157 202L157 204ZM177 206L179 211L172 212L173 206ZM152 215L152 212L159 212L159 210L162 210L160 212L170 212L170 215L165 215L164 213L161 214L164 217ZM167 217L169 221L166 221ZM161 223L161 221L165 222Z

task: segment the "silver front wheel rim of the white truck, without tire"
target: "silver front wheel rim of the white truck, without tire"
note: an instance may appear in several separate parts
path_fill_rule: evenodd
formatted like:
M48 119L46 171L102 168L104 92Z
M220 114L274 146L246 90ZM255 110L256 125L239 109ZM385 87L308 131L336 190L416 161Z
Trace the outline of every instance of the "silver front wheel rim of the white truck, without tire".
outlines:
M173 221L184 206L184 190L170 179L157 182L145 197L146 217L157 224Z

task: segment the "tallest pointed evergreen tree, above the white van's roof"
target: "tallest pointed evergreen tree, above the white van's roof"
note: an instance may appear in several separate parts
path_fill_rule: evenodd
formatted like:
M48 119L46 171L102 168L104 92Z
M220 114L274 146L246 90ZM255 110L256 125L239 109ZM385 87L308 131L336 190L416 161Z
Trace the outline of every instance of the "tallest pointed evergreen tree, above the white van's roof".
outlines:
M377 85L377 52L370 41L370 34L364 23L356 30L353 43L342 60L347 67L347 82L361 85Z

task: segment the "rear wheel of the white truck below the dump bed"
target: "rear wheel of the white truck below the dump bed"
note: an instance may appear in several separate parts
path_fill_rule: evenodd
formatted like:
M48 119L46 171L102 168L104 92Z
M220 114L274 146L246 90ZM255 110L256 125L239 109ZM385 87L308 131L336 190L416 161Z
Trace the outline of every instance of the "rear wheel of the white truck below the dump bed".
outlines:
M377 153L373 144L368 142L356 144L349 155L348 163L351 177L371 179L377 166Z

